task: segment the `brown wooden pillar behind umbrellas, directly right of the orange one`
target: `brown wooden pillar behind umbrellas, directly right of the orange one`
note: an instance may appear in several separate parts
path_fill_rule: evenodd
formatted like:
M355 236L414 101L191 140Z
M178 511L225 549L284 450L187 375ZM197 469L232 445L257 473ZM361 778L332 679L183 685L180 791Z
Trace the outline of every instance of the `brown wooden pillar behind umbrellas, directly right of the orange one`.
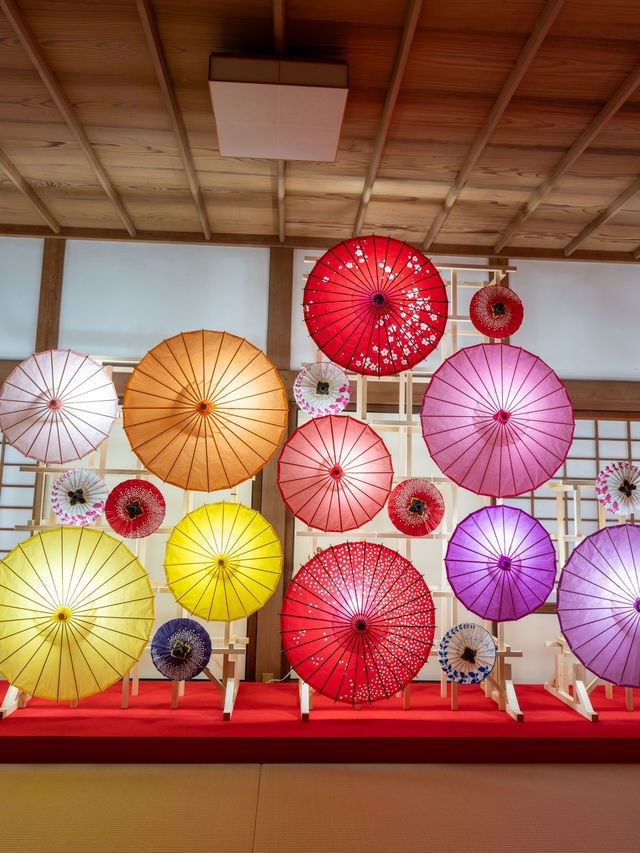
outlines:
M291 299L293 288L293 249L271 249L269 264L269 313L267 324L267 356L280 371L289 370L291 356ZM289 400L289 420L286 438L295 429L296 409ZM269 601L257 613L255 678L272 673L282 675L282 643L280 640L280 610L285 583L293 567L293 516L278 489L278 458L280 452L262 469L260 511L276 531L284 551L283 577ZM249 632L251 633L251 631Z

